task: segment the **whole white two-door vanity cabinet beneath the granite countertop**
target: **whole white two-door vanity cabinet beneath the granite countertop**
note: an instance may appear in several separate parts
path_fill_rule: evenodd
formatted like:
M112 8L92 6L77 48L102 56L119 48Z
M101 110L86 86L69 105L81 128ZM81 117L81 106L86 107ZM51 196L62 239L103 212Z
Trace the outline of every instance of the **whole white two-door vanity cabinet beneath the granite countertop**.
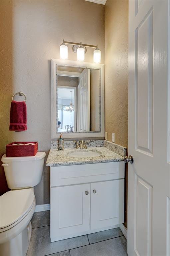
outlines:
M124 162L50 167L51 242L124 222Z

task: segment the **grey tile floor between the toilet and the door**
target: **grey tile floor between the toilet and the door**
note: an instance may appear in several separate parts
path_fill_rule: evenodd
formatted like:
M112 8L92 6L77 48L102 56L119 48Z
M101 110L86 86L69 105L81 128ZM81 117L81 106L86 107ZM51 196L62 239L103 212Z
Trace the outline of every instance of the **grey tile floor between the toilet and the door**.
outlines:
M119 228L50 242L50 211L36 212L26 256L125 256L127 241Z

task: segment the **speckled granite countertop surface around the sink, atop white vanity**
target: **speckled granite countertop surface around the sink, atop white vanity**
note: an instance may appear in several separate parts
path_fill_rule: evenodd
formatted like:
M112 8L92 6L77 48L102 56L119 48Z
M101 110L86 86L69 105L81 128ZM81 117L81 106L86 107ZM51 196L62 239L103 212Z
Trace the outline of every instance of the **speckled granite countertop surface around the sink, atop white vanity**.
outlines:
M70 153L79 151L93 151L101 155L95 157L73 157ZM87 149L66 148L64 150L51 149L46 161L46 166L65 166L78 164L106 163L123 161L123 156L120 156L106 147L89 147Z

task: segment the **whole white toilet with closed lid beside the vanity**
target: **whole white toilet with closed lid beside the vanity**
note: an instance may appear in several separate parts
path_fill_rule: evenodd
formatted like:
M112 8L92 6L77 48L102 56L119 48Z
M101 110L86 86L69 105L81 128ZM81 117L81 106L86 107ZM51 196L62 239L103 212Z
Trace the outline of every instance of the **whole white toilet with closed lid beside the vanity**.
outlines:
M34 186L40 183L45 152L35 156L6 157L1 161L8 187L0 196L0 256L25 256L31 239L31 218L36 199Z

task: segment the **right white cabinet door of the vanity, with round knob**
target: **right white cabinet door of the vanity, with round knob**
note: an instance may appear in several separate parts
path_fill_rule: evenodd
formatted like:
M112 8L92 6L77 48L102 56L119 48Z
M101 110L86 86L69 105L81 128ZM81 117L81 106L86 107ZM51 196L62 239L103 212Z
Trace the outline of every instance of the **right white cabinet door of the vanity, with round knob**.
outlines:
M124 222L124 179L91 183L90 229Z

